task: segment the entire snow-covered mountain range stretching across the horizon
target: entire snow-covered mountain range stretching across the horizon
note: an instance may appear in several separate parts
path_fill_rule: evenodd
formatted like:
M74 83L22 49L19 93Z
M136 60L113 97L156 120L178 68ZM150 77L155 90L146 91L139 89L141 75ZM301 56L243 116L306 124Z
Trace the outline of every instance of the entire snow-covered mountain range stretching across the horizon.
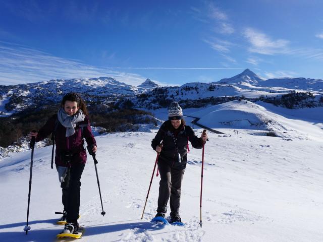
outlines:
M280 98L293 92L311 92L313 102L323 103L323 80L306 78L279 78L264 80L249 69L232 78L212 83L186 83L182 86L160 87L147 79L139 86L118 82L111 77L50 80L23 85L0 86L0 115L8 115L38 103L58 102L64 93L76 91L88 103L110 105L131 99L134 107L159 108L172 100L197 106L215 104L210 99L231 101L240 97L249 99ZM231 99L230 99L231 98ZM192 104L193 103L193 104ZM308 102L307 102L308 103ZM7 104L7 105L6 105ZM6 108L5 109L5 105ZM307 104L306 104L307 105ZM316 104L310 104L315 106Z

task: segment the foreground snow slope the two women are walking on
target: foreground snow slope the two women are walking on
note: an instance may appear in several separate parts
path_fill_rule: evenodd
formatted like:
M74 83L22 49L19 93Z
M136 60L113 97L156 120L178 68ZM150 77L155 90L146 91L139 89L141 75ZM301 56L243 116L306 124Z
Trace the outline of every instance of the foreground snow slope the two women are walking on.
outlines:
M156 130L154 131L156 132ZM200 134L201 130L197 131ZM98 175L106 215L100 215L94 164L82 175L82 241L248 241L318 242L323 232L323 142L277 137L209 134L205 146L202 221L198 222L201 150L191 147L182 185L180 214L185 227L156 227L159 177L154 176L155 133L96 137ZM62 226L57 172L50 169L51 147L35 150L29 221L25 235L30 151L0 163L0 241L52 241Z

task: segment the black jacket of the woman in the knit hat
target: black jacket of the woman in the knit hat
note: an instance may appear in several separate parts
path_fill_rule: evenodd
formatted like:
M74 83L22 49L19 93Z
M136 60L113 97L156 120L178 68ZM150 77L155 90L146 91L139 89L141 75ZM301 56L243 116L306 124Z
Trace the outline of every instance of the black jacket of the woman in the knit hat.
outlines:
M203 147L203 140L198 138L190 126L181 125L177 130L170 129L172 127L171 121L167 120L159 128L155 138L151 141L151 147L155 150L156 146L163 141L163 148L161 149L158 163L167 162L174 169L185 169L187 163L187 144L191 142L192 146L197 149ZM177 148L174 142L174 138L177 140ZM180 154L180 160L178 153Z

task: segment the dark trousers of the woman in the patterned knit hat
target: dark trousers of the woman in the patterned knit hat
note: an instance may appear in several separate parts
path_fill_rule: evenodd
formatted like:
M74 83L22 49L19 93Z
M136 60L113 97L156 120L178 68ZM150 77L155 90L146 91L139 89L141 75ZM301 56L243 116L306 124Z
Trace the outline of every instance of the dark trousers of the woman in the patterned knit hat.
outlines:
M160 173L160 182L157 213L167 212L167 203L171 198L171 216L175 216L179 214L181 185L185 169L173 169L165 162L158 162L158 169Z

